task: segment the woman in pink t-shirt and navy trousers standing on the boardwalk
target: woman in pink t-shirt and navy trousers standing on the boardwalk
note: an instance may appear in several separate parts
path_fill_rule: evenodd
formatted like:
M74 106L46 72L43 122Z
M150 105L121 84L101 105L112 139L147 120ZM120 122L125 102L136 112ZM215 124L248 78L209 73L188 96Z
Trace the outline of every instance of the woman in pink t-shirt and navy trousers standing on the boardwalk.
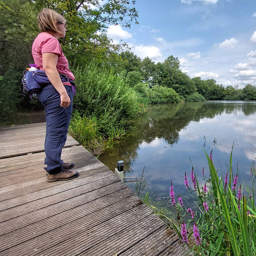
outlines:
M41 33L32 45L32 55L38 69L44 70L51 84L37 93L44 105L46 119L46 135L44 142L44 167L47 181L70 180L78 176L78 172L68 171L73 163L61 160L61 151L67 140L67 132L72 112L75 79L68 69L68 60L63 55L58 38L66 33L66 20L57 12L44 8L38 14L38 25ZM65 82L62 82L65 77Z

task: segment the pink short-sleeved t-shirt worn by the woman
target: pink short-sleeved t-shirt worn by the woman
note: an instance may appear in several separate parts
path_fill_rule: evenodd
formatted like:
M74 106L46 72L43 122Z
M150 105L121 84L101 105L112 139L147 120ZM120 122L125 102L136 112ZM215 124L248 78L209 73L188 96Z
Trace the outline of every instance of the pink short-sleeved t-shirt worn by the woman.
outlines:
M64 74L68 76L69 79L75 80L73 73L68 69L68 60L64 56L59 41L54 37L48 34L47 32L40 33L32 45L32 56L34 59L37 68L40 70L43 69L43 59L42 54L44 52L53 52L56 53L59 58L56 65L57 71L59 74ZM63 83L65 85L71 85L70 83Z

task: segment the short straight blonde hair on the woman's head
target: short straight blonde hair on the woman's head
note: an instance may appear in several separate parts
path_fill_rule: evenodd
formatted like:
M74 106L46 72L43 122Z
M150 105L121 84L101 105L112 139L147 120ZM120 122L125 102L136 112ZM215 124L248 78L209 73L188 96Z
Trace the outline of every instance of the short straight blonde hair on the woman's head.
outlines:
M41 32L53 31L56 33L62 33L56 26L55 20L65 23L66 20L52 9L43 8L42 11L37 15L38 27Z

